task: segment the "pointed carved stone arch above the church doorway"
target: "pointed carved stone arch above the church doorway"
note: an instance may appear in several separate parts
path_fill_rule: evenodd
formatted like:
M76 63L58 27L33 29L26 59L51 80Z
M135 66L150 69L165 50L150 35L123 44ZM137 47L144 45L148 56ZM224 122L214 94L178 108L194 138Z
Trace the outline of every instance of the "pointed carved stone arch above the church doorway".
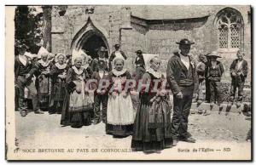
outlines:
M84 43L92 36L101 37L105 43L108 54L110 53L108 32L96 22L96 20L89 16L85 25L75 34L71 43L71 49L79 50L83 48Z

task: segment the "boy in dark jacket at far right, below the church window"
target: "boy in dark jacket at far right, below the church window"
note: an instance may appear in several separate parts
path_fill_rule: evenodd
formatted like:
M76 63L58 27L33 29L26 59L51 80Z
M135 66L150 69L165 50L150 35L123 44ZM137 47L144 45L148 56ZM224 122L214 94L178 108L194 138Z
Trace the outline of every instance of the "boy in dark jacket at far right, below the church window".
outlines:
M238 88L238 101L242 101L244 83L247 78L248 66L247 60L244 60L244 53L237 51L237 59L230 65L231 83L231 99L235 99L236 88Z

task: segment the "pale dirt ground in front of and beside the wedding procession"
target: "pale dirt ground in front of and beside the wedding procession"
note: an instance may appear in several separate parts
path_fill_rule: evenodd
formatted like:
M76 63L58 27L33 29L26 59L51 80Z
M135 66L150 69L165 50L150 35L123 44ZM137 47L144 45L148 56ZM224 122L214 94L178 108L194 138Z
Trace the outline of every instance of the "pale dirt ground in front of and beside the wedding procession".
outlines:
M83 128L70 128L61 127L61 115L57 114L49 115L45 112L43 115L38 115L30 112L26 117L20 117L19 112L16 111L15 117L16 138L20 149L61 148L65 146L67 148L102 148L104 150L125 148L131 150L131 136L114 139L111 135L105 134L105 124L102 122ZM246 137L251 127L250 124L250 121L245 120L245 117L238 113L230 113L229 116L225 116L224 113L218 115L218 112L212 112L209 116L191 114L189 116L189 133L197 139L196 143L179 142L176 147L162 152L168 154L170 151L175 151L178 153L180 148L191 149L195 146L218 149L230 145L235 148L238 147L237 151L241 153L243 149L249 152L251 143L246 141ZM241 156L241 153L237 152L238 156ZM139 154L143 154L143 152L139 152ZM44 159L45 157L41 158Z

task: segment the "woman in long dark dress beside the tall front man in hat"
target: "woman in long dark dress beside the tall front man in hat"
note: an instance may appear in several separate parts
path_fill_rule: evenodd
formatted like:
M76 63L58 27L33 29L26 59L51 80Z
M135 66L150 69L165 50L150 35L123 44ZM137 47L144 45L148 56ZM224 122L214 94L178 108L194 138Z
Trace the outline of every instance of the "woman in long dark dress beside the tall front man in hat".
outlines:
M143 84L149 85L149 89L144 87L140 91L141 103L134 123L131 140L134 151L152 152L172 147L171 106L165 90L165 77L159 71L159 57L154 56L150 65L143 75Z

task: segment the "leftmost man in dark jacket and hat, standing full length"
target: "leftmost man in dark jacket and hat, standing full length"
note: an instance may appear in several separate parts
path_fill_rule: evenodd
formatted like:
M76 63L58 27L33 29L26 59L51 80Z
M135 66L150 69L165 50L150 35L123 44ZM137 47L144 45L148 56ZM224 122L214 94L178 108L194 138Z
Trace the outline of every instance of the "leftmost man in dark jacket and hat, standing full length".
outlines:
M33 111L37 114L43 113L38 106L38 92L35 84L32 82L32 76L38 67L29 62L25 56L27 46L20 44L18 46L19 55L15 57L15 86L19 89L18 110L21 117L26 117L26 105L24 102L24 88L26 87L32 94Z

